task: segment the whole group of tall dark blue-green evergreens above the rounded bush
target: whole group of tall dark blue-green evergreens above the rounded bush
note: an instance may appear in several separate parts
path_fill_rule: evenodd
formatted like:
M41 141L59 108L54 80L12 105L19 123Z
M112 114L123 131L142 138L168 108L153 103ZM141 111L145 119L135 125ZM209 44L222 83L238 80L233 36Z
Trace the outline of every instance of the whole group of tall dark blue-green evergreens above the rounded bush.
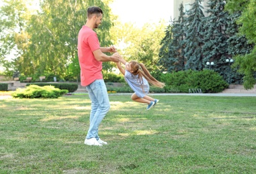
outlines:
M195 1L185 14L181 4L179 19L167 27L159 52L162 71L211 68L226 82L242 84L243 72L230 68L231 64L226 62L226 59L248 54L252 49L245 36L237 34L239 25L235 21L241 13L228 14L224 10L225 1L214 0L208 1L208 15L204 17L200 3L201 0ZM214 66L207 66L206 62L214 62Z

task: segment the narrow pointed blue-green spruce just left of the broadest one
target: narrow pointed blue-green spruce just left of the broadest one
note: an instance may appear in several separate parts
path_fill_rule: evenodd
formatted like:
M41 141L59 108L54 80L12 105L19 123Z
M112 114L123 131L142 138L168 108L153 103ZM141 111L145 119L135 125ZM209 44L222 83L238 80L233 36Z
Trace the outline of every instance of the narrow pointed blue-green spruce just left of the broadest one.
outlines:
M202 46L204 46L204 13L201 5L202 0L196 0L191 4L191 9L187 11L187 25L185 28L185 69L202 70L203 66L203 52Z

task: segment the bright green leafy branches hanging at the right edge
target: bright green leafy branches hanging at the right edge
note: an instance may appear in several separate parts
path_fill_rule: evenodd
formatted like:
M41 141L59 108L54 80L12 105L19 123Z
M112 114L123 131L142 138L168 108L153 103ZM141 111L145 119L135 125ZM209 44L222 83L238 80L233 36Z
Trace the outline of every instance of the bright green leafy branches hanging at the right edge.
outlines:
M256 31L255 25L255 1L243 1L243 0L229 0L226 4L226 9L229 13L241 12L241 17L237 20L240 25L239 33L247 37L249 43L253 43L254 48L250 53L239 54L234 57L233 67L238 67L239 72L244 74L244 86L245 89L251 89L256 83Z

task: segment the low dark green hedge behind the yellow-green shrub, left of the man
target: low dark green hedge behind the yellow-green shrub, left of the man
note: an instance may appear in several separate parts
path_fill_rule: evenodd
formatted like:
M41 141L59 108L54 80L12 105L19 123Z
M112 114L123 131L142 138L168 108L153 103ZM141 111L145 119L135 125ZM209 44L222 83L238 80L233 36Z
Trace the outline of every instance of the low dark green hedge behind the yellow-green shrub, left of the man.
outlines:
M60 90L68 90L69 92L75 92L78 88L77 84L62 84L62 83L29 83L26 86L30 85L38 85L38 86L54 86L55 88L59 88Z

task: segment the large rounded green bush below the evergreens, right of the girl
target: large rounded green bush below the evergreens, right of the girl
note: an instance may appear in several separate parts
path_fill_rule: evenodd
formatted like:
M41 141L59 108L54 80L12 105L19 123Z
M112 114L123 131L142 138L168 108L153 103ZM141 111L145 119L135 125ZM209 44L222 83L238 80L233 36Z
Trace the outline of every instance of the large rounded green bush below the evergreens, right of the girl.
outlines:
M213 70L179 71L161 74L161 82L165 82L165 92L189 92L189 89L201 89L203 93L222 92L228 83Z

